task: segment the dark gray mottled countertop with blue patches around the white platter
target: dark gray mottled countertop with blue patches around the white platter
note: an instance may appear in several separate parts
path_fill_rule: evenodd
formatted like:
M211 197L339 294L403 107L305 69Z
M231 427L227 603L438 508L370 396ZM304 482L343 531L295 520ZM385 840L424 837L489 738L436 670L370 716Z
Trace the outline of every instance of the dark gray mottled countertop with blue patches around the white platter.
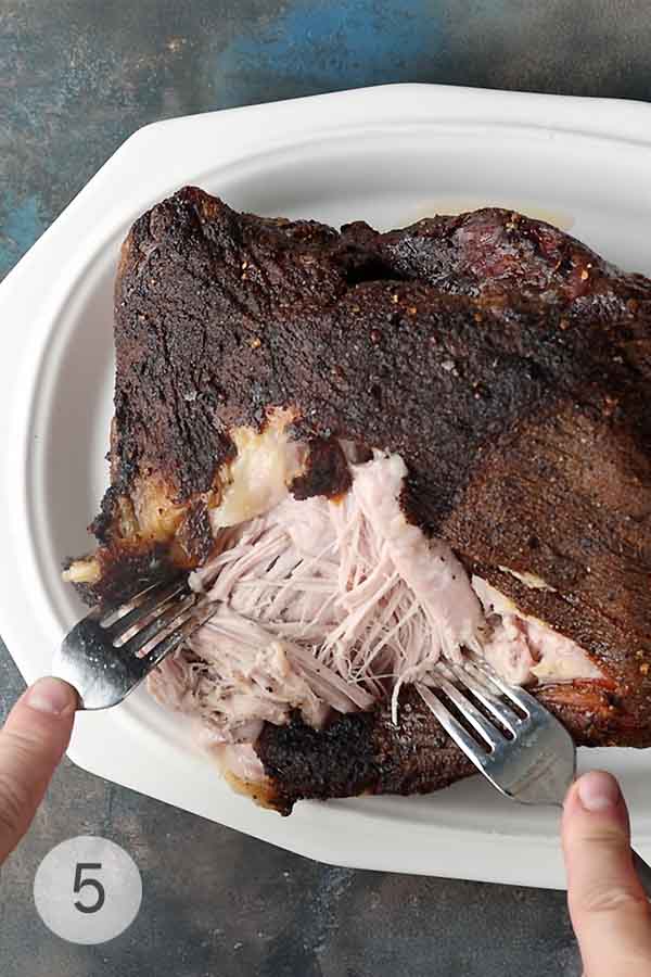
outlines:
M384 81L651 99L643 0L0 0L0 275L154 119ZM3 323L2 328L10 328ZM0 646L0 719L22 689ZM130 929L52 936L31 885L59 841L103 835L144 885ZM564 896L332 868L59 771L0 889L3 977L439 977L580 973Z

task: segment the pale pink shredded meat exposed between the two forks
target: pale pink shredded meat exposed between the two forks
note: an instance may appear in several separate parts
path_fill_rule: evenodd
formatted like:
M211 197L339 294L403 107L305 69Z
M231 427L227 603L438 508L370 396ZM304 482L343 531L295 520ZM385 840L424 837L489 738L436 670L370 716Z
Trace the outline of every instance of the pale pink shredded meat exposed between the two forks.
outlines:
M348 464L343 498L285 488L268 511L219 531L191 576L215 614L150 677L159 701L199 716L212 744L251 744L293 711L318 728L330 710L390 697L397 722L401 685L464 651L518 684L599 676L583 649L485 581L471 585L449 546L407 521L399 456Z

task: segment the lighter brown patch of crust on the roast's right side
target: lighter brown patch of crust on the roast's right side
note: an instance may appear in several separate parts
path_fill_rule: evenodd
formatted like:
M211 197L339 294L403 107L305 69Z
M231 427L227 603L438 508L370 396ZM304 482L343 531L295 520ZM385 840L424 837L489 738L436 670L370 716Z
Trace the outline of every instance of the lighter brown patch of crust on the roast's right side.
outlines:
M651 735L649 460L631 428L559 406L486 452L442 526L471 571L596 661L616 688L605 738L621 720L622 745Z

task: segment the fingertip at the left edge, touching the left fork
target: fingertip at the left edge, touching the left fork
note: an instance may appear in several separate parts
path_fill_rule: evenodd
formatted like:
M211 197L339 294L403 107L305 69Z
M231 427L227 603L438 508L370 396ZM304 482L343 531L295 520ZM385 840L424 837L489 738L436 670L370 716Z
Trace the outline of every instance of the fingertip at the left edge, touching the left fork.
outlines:
M0 732L0 865L29 827L69 743L76 708L72 686L40 678Z

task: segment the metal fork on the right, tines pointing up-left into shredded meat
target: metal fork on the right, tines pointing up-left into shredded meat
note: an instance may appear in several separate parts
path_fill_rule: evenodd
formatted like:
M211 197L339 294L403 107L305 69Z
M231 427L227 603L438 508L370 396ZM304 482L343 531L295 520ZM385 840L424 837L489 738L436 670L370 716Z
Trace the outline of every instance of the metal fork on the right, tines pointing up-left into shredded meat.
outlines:
M563 807L576 774L576 747L565 727L534 696L503 682L488 664L470 659L462 665L436 665L431 683L419 683L417 689L446 733L501 794L523 804ZM651 897L651 866L633 849L631 854Z

